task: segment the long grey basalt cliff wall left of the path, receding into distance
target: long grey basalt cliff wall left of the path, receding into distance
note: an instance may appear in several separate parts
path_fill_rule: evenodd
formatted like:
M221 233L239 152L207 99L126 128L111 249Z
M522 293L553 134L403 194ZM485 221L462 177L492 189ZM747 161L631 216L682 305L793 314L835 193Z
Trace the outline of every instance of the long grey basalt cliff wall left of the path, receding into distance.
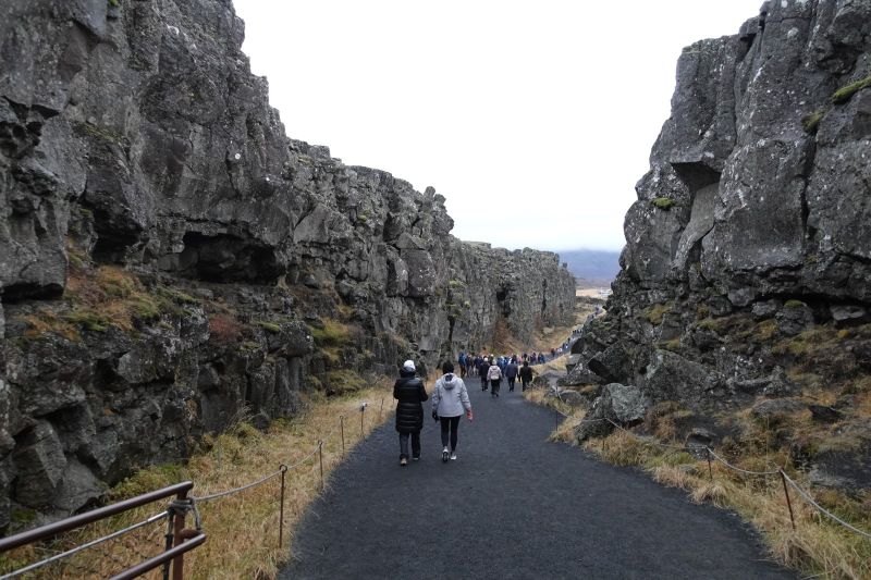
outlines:
M242 40L230 0L0 8L0 528L342 369L571 320L555 255L289 139Z

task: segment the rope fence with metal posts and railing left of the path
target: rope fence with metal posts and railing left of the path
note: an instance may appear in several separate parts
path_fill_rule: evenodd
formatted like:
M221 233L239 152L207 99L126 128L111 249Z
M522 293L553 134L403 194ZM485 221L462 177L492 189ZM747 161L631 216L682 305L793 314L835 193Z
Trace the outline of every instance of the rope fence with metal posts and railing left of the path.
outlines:
M381 398L381 406L380 406L380 409L379 409L379 420L381 419L381 417L383 415L383 405L384 405L384 399L382 397ZM369 406L368 403L364 403L363 405L360 405L358 407L358 411L360 414L360 431L359 431L360 437L363 437L364 434L365 434L366 409L368 408L368 406ZM128 526L126 528L123 528L121 530L116 530L116 531L114 531L114 532L112 532L110 534L103 535L103 536L98 538L96 540L88 541L88 542L86 542L84 544L75 546L75 547L73 547L71 550L68 550L65 552L62 552L60 554L54 554L54 555L52 555L50 557L47 557L47 558L44 558L44 559L41 559L39 562L29 564L29 565L27 565L27 566L25 566L23 568L19 568L19 569L16 569L14 571L8 572L8 573L5 573L3 576L0 576L0 580L19 578L19 577L21 577L21 576L23 576L25 573L32 572L34 570L37 570L37 569L42 568L45 566L48 566L50 564L57 564L57 563L59 563L61 560L64 560L64 559L68 559L70 557L72 557L72 556L74 556L74 555L76 555L76 554L78 554L81 552L84 552L85 550L93 548L93 547L98 546L98 545L100 545L100 544L102 544L105 542L108 542L110 540L115 540L118 538L121 538L122 535L128 534L128 533L131 533L131 532L133 532L135 530L144 528L145 526L155 523L157 521L160 521L161 519L164 519L164 518L169 519L169 522L168 522L169 530L168 530L168 533L167 533L167 542L168 542L167 543L167 548L168 548L168 551L167 551L165 554L171 555L170 554L171 551L169 550L169 547L171 546L171 542L172 542L172 538L173 538L173 531L172 530L173 530L173 518L174 518L174 516L176 517L176 519L180 519L181 522L182 522L182 526L176 526L177 529L176 529L175 533L180 534L182 536L191 535L191 534L185 534L184 533L184 532L188 532L188 530L184 530L183 531L181 529L183 527L184 515L187 511L193 511L194 518L195 518L195 523L196 523L196 531L198 533L200 533L200 535L197 535L196 538L194 538L194 540L196 540L196 542L192 541L191 544L192 544L192 546L199 545L199 544L203 543L203 541L205 541L205 535L201 534L200 516L199 516L199 510L197 508L198 504L205 504L205 503L208 503L208 502L213 502L216 499L221 499L223 497L229 497L229 496L232 496L232 495L236 495L238 493L242 493L242 492L252 490L254 488L258 488L260 485L263 485L263 484L266 484L266 483L268 483L268 482L270 482L270 481L272 481L272 480L274 480L274 479L277 479L279 477L281 478L281 492L280 492L280 501L279 501L279 503L280 503L279 546L281 546L284 543L284 493L285 493L285 486L286 486L286 482L285 482L286 473L289 471L292 471L292 470L295 470L297 468L303 467L305 464L310 461L315 456L318 456L318 467L319 467L319 472L320 472L320 489L321 490L326 489L326 478L324 478L324 472L323 472L323 448L324 448L324 445L327 443L332 442L333 437L336 434L339 434L340 435L340 440L341 440L342 457L345 456L345 448L346 448L345 419L346 419L346 417L344 415L340 415L338 424L326 436L323 436L323 437L318 440L317 444L315 445L315 448L309 454L307 454L306 456L304 456L303 458L298 459L296 462L294 462L294 464L292 464L290 466L282 464L281 466L279 466L278 470L275 470L275 471L273 471L271 473L268 473L268 474L266 474L266 476L263 476L263 477L261 477L261 478L259 478L259 479L257 479L255 481L238 485L236 488L232 488L232 489L229 489L229 490L223 490L223 491L219 491L219 492L209 493L209 494L206 494L206 495L203 495L203 496L199 496L199 497L193 496L193 495L188 495L185 498L176 498L173 502L171 502L171 504L169 506L169 509L167 509L164 511L161 511L159 514L156 514L156 515L147 518L146 520L139 521L137 523L134 523L134 525ZM181 516L181 517L179 518L177 516ZM179 523L179 522L176 521L175 523ZM27 534L27 533L28 532L22 532L22 534ZM20 535L22 535L22 534L20 534ZM184 538L184 539L186 539L186 538ZM16 545L24 545L24 543L19 543ZM11 547L15 547L15 545L12 545ZM8 550L11 550L11 547L9 547ZM174 548L174 551L177 551L177 544L176 544L176 548ZM163 558L163 559L168 560L168 558ZM144 565L139 565L137 567L131 568L130 570L125 571L124 573L120 575L119 577L133 578L134 576L125 576L125 573L128 575L132 571L136 571L138 568L142 568L142 566L144 566ZM164 578L168 578L167 573L168 572L164 573ZM138 576L138 573L135 575L135 576ZM182 576L173 576L173 578L180 578L181 579Z

